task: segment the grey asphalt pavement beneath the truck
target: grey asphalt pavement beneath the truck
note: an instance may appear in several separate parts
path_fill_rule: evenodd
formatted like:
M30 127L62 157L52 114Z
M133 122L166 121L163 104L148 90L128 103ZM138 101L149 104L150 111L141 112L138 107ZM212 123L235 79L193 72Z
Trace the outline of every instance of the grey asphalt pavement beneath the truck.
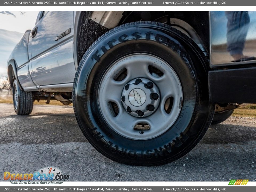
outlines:
M0 173L58 167L70 181L256 181L256 118L230 117L211 125L186 156L162 166L114 162L84 138L71 106L34 105L18 116L0 104ZM0 177L3 181L3 177Z

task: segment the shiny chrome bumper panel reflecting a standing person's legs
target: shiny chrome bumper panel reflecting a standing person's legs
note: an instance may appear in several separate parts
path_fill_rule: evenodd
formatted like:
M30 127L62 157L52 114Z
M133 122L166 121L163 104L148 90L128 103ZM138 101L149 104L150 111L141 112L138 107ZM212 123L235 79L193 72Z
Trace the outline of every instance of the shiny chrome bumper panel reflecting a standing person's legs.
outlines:
M256 11L210 11L210 63L256 62Z

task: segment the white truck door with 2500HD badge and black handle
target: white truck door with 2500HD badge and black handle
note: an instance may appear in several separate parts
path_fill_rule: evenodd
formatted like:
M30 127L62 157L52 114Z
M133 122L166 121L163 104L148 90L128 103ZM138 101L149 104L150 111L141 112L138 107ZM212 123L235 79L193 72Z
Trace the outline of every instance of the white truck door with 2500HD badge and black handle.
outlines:
M33 81L38 85L73 83L73 11L40 11L30 33Z

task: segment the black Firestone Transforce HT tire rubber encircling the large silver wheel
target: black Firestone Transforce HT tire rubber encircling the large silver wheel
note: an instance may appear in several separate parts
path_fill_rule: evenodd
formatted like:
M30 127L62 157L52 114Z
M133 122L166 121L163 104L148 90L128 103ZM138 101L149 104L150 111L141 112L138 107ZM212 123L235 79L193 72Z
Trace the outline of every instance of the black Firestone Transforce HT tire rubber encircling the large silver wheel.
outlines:
M166 61L178 74L183 89L181 112L175 123L162 135L142 141L113 131L102 117L97 99L105 71L114 61L131 53L148 53ZM179 159L203 138L213 118L208 66L199 47L168 25L132 22L116 27L95 41L79 63L73 87L78 125L91 145L114 161L155 166Z

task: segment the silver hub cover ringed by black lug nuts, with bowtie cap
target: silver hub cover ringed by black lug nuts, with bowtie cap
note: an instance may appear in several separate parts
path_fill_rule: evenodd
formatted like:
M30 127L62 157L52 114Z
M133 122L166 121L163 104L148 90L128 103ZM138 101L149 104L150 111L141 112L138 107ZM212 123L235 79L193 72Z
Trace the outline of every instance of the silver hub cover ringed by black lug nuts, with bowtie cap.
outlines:
M136 78L124 86L121 101L130 115L147 117L159 106L160 94L154 82L146 78Z

